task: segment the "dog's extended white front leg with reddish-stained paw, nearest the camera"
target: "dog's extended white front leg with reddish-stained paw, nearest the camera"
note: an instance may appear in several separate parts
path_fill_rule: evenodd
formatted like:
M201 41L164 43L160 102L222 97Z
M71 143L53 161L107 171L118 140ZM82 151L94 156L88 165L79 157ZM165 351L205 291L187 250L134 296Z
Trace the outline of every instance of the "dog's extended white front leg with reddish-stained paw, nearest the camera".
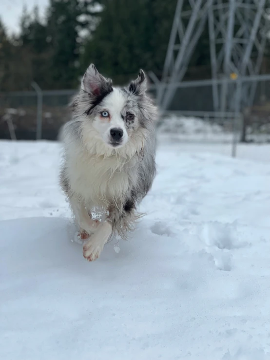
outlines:
M83 256L85 259L88 261L96 260L103 250L104 245L107 243L111 233L112 225L108 221L101 223L91 239L83 246Z

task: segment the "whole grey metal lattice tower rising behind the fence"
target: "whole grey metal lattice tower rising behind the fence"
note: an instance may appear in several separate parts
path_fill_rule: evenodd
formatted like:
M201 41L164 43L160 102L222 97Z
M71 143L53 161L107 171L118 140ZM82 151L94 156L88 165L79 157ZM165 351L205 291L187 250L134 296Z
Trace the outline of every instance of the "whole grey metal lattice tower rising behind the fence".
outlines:
M208 20L213 79L259 74L264 54L269 0L178 0L164 64L158 102L166 110L172 101L175 82L183 79L190 58ZM235 86L213 81L215 111L240 111L251 105L256 83L237 81ZM238 101L238 100L239 101Z

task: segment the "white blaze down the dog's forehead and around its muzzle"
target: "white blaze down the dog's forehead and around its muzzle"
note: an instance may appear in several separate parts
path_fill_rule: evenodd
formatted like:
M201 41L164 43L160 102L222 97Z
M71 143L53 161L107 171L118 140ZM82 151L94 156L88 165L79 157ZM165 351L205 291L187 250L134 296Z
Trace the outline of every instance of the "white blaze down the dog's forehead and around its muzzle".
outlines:
M119 89L114 88L114 90L102 101L101 112L108 112L109 117L102 118L100 114L97 114L94 119L94 128L108 145L112 142L110 133L112 129L121 129L123 131L121 146L125 145L128 141L128 133L126 131L125 122L121 116L121 112L123 112L123 108L125 106L125 101L126 98L122 92Z

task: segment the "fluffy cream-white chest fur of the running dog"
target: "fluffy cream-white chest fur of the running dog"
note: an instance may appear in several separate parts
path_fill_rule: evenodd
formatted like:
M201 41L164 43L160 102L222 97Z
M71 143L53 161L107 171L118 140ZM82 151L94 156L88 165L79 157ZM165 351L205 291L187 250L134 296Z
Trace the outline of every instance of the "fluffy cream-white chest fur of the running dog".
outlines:
M71 190L85 204L108 206L127 198L136 182L136 175L131 178L128 170L135 164L136 156L127 160L117 153L104 156L80 149L69 152L66 171Z

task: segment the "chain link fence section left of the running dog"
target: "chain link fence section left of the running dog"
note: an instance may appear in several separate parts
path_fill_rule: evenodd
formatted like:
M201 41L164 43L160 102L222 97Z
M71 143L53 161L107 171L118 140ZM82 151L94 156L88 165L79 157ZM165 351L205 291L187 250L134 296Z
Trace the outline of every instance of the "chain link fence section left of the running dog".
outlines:
M0 138L56 140L75 94L76 90L43 91L41 116L35 91L0 94Z

